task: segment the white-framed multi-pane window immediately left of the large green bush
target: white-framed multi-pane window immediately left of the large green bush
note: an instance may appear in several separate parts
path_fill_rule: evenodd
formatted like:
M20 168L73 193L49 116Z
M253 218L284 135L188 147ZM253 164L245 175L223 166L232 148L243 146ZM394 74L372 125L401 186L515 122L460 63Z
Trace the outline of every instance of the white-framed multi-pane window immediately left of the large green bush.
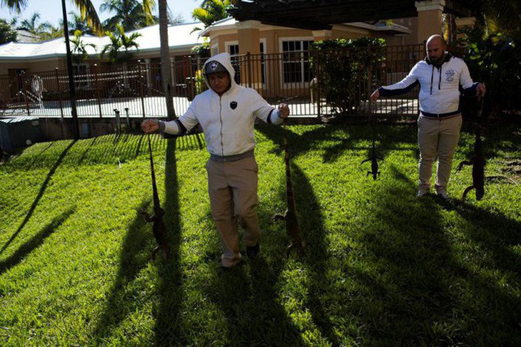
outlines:
M309 63L309 46L313 41L283 41L283 82L309 83L313 73Z

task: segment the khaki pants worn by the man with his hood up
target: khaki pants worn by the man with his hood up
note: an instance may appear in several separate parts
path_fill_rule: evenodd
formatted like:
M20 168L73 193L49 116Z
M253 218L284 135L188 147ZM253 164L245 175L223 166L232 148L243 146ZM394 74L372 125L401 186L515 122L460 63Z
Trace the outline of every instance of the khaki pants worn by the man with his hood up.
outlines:
M255 210L258 204L258 166L255 157L234 162L208 160L208 193L212 218L221 234L221 265L234 266L241 260L238 220L244 229L244 243L255 246L260 228Z

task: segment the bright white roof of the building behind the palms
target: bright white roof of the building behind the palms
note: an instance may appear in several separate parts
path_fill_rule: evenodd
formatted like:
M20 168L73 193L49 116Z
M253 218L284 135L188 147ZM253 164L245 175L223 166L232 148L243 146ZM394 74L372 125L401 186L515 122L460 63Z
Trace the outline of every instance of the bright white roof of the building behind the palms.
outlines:
M203 24L200 22L190 24L180 24L176 26L168 26L168 46L170 49L187 49L203 42L199 36L200 31L191 33L194 28L202 28ZM159 51L161 46L159 38L159 25L147 26L146 28L128 31L126 36L132 33L141 33L141 36L136 38L138 43L138 51ZM74 38L74 36L69 36ZM87 46L88 54L100 53L103 46L110 43L110 39L106 36L81 36L84 43L93 43L96 49ZM72 44L71 44L72 49ZM131 48L129 51L136 51L136 48ZM26 42L9 42L0 45L0 61L2 60L34 60L41 58L52 58L57 56L66 56L65 39L54 38L49 41L38 43Z

